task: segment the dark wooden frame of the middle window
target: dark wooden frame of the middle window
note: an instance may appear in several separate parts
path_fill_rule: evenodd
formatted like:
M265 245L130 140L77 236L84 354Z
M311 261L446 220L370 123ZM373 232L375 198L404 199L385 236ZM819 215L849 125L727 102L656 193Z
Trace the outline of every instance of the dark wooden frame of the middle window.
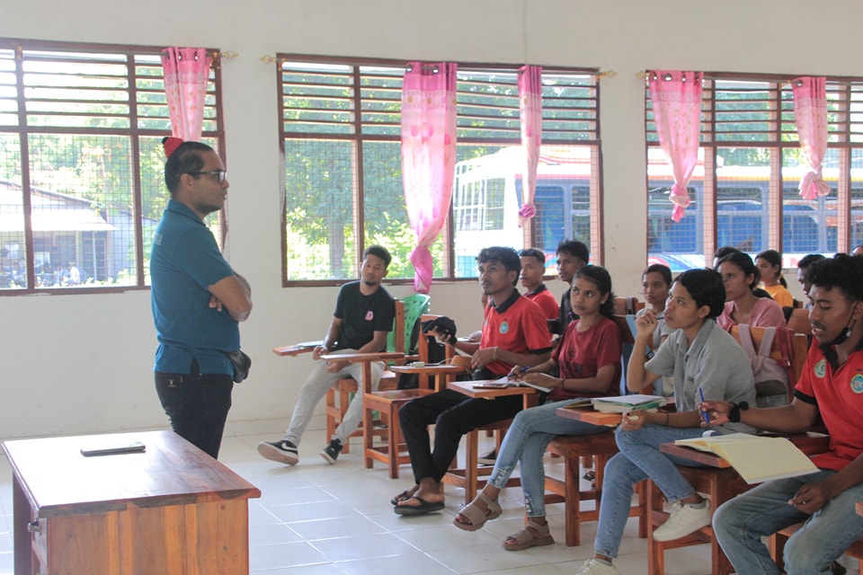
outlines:
M288 154L288 142L290 139L340 139L351 142L351 146L354 146L354 155L356 155L359 159L357 160L357 166L354 173L354 181L353 181L353 190L351 191L353 205L356 209L356 215L354 216L354 224L355 229L353 234L355 234L356 238L353 246L354 261L359 262L361 259L361 253L365 245L365 236L366 229L363 226L364 223L364 203L365 203L365 184L362 176L362 145L365 142L401 142L400 134L396 133L396 135L382 135L382 134L364 134L362 132L363 127L363 112L366 111L361 107L361 95L360 95L360 66L386 66L392 68L401 68L404 69L407 65L407 61L405 59L392 59L392 58L366 58L366 57L334 57L334 56L314 56L308 54L295 54L295 53L279 53L275 58L277 66L275 69L276 79L277 79L277 98L278 98L278 110L279 110L279 150L280 157L286 158ZM351 87L354 88L353 94L353 102L354 107L350 110L351 113L355 116L355 118L351 122L351 126L353 129L350 133L308 133L308 132L299 132L299 131L290 131L286 129L286 124L289 123L289 119L286 116L286 107L285 107L285 98L288 94L285 92L286 84L284 82L285 68L283 67L286 63L294 63L294 64L318 64L318 65L330 65L330 66L353 66L353 77L354 84L351 84ZM508 64L488 64L488 63L474 63L474 62L458 62L458 73L463 72L481 72L481 73L506 73L506 74L517 74L518 69L522 65L508 65ZM544 130L543 137L543 146L554 146L554 145L565 145L565 146L590 146L592 148L592 157L591 157L591 168L592 168L592 180L591 180L591 194L590 198L592 201L592 209L590 210L590 226L591 226L591 237L590 238L579 238L585 241L586 243L590 243L591 246L591 259L592 261L601 262L603 255L603 233L602 233L602 193L601 193L601 183L602 183L602 173L601 173L601 138L600 138L600 102L599 102L599 87L600 87L600 71L597 68L588 68L588 67L567 67L567 66L543 66L543 74L546 75L587 75L592 78L592 84L588 87L593 91L592 101L594 102L592 108L589 110L592 112L592 119L587 120L588 123L592 124L592 133L594 137L585 138L585 139L563 139L560 137L555 137L556 134L559 134L561 130L553 129L550 131ZM459 80L459 83L461 80ZM461 91L459 90L459 94ZM398 102L401 101L400 98L400 90L399 90L399 99ZM545 103L545 102L544 102ZM461 109L465 104L463 102L458 103L458 108ZM518 108L515 109L514 118L518 121ZM546 124L549 119L545 116L545 106L544 106L544 118L543 123ZM397 113L400 113L397 112ZM457 123L459 119L467 118L465 115L459 113ZM557 120L557 121L566 121ZM580 120L581 121L581 120ZM400 125L395 125L396 130L400 131ZM459 130L463 129L460 123L458 123L457 133ZM494 128L492 128L494 129ZM518 132L518 127L515 128L516 132ZM506 128L503 128L501 131L506 131ZM569 133L569 132L566 132ZM501 137L498 139L489 139L485 137L463 137L461 135L458 136L458 145L481 145L481 146L519 146L520 145L520 136L516 134L514 137L510 135L509 137ZM290 279L289 278L289 237L288 237L288 213L289 206L287 201L287 174L285 170L284 164L280 167L280 185L282 190L281 196L281 217L280 217L280 257L281 257L281 278L282 278L282 287L301 287L301 286L337 286L343 284L346 280L349 280L351 275L349 275L349 279ZM456 190L453 192L453 198L455 198ZM449 204L449 212L445 225L443 226L440 232L440 238L438 242L442 241L444 243L444 259L443 268L445 270L444 276L438 277L435 276L435 280L437 281L476 281L475 278L466 278L459 277L457 275L458 267L456 261L456 249L455 249L455 218L457 216L454 214L453 202L450 201ZM524 227L522 235L522 247L533 247L532 246L532 238L536 237L536 217L531 218ZM406 254L405 254L406 257ZM410 284L413 283L413 277L410 278L395 278L388 277L387 283L390 284Z

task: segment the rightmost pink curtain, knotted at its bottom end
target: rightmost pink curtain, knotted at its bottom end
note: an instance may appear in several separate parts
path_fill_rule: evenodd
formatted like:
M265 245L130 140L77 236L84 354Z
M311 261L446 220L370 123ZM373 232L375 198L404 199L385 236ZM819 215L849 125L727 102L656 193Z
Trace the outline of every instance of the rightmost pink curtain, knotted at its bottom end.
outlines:
M810 168L800 180L800 195L815 199L830 193L830 186L821 176L821 163L827 153L827 83L823 77L803 77L792 81L791 88L800 149Z

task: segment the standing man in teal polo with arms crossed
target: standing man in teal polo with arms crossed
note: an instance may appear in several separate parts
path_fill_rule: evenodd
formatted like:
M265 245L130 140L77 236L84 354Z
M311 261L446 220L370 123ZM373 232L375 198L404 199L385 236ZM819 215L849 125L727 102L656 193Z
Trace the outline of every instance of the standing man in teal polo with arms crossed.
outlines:
M252 311L252 291L204 224L225 206L225 164L200 142L166 137L163 145L171 199L150 255L156 392L172 429L218 457L234 387L227 353L240 349L239 322Z

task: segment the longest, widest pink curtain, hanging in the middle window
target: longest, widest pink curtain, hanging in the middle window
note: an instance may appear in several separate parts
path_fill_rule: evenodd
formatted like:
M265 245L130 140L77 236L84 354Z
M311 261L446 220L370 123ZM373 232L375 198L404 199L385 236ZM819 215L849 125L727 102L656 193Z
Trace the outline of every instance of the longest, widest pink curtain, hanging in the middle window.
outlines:
M432 286L432 252L449 214L456 171L455 64L411 62L402 87L402 173L407 217L416 234L408 256L414 290Z

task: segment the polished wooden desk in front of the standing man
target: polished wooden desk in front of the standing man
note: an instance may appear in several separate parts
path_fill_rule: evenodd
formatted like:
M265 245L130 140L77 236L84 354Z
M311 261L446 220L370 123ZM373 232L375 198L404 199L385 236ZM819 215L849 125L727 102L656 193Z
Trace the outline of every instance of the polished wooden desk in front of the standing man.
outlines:
M85 457L84 445L145 452ZM22 439L13 469L15 575L249 572L249 482L173 433Z

